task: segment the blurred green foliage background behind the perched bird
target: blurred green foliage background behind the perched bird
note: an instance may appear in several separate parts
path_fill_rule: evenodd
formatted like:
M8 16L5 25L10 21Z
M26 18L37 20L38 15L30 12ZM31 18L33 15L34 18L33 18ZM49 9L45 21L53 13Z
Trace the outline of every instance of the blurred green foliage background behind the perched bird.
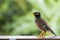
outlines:
M0 0L0 35L39 35L33 12L39 11L60 35L60 0ZM51 33L46 33L51 35Z

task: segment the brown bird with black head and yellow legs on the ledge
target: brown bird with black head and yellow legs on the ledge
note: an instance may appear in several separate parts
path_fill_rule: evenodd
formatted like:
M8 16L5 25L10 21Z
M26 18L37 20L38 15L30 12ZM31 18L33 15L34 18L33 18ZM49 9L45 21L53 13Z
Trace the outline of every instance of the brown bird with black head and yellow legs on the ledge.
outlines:
M33 15L35 16L36 26L41 30L41 33L40 33L39 37L44 38L45 33L47 31L51 32L52 34L54 34L56 36L56 34L52 31L52 29L50 28L50 26L46 22L46 20L41 17L40 12L34 12Z

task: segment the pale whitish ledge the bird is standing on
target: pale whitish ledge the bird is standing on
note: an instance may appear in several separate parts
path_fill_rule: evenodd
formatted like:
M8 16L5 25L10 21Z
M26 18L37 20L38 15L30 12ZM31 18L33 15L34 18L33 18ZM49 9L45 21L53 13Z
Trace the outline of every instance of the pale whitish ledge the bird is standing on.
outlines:
M0 36L0 39L9 39L9 40L24 40L24 39L34 39L34 40L39 40L41 38L38 38L37 36ZM44 40L57 40L60 39L60 36L45 36ZM41 39L42 40L42 39Z

